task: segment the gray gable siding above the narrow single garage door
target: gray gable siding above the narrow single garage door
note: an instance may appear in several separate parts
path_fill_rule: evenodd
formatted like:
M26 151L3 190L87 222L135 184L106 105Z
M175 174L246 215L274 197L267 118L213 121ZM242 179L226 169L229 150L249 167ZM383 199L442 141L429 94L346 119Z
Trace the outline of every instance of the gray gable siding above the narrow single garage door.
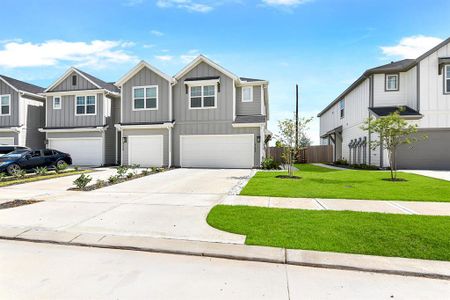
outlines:
M133 87L158 86L158 109L133 111ZM160 122L169 120L169 82L144 67L122 86L122 123Z

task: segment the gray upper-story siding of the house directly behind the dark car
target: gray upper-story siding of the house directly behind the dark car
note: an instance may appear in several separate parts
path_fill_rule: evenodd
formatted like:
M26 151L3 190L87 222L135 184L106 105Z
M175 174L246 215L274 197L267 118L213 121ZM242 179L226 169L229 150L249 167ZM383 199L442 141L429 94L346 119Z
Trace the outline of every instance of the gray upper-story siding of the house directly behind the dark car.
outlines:
M61 109L53 109L53 96L47 97L47 127L102 126L103 94L97 94L97 114L95 116L75 115L75 95L61 97Z

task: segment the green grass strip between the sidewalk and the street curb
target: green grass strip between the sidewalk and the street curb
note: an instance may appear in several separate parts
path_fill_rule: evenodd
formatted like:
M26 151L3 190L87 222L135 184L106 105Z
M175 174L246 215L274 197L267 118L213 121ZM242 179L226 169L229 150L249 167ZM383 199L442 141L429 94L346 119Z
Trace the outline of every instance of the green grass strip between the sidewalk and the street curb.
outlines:
M450 261L450 218L215 206L211 226L247 245Z

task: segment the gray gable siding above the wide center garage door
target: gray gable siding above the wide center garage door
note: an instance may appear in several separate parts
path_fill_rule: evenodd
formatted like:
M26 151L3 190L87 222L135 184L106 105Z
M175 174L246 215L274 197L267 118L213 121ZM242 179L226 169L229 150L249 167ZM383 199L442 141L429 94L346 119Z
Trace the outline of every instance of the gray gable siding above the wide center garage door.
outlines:
M184 80L192 77L220 77L220 92L217 94L217 108L189 109L189 95ZM178 80L173 88L174 116L177 122L232 121L233 119L233 80L206 63L200 63Z

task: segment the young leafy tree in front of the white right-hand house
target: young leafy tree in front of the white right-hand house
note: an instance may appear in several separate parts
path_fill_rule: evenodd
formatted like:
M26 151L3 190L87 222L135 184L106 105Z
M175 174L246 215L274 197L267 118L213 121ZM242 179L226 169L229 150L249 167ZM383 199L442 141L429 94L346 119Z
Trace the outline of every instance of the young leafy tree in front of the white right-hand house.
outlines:
M388 151L391 180L397 180L397 149L400 145L412 144L418 141L413 134L417 133L417 125L409 124L400 116L399 110L385 117L374 119L369 117L361 128L363 130L377 133L378 140L370 142L370 147L375 150L383 146ZM426 137L424 137L426 138Z

